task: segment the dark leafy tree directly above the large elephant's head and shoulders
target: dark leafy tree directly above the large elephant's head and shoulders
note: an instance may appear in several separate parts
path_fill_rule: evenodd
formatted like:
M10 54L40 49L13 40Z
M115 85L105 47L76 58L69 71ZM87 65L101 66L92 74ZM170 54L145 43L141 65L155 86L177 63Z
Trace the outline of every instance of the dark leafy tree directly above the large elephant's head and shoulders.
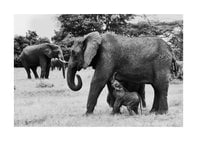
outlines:
M57 20L60 22L60 30L55 31L52 41L60 42L68 34L74 37L83 36L92 31L100 33L113 31L122 33L128 21L133 19L133 14L69 14L60 15Z

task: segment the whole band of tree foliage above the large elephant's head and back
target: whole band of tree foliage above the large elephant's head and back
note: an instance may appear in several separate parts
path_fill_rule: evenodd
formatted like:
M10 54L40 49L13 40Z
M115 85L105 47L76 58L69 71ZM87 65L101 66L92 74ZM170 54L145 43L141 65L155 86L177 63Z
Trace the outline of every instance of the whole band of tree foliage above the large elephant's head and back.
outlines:
M135 17L142 17L144 21L133 24ZM183 32L173 33L177 27L183 29L182 21L154 22L146 15L134 14L70 14L57 17L60 22L59 31L55 31L52 41L62 46L63 50L69 48L75 37L83 36L92 31L103 33L112 31L128 37L160 36L170 44L178 60L183 58ZM170 35L170 37L169 37Z

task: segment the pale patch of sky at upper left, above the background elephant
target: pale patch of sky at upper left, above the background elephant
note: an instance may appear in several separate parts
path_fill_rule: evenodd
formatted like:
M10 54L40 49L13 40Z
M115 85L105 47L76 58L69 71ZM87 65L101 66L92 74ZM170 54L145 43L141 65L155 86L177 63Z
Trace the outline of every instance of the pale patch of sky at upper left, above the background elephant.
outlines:
M14 15L14 34L25 35L27 30L36 31L40 37L54 35L54 30L58 30L56 15Z

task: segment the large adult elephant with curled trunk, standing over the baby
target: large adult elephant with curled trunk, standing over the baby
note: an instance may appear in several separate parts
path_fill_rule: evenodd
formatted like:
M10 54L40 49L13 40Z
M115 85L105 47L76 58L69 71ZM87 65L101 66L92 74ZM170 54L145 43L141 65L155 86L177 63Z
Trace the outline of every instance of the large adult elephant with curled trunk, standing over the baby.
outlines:
M82 80L77 71L92 66L95 69L87 101L86 114L93 113L100 92L114 72L117 79L136 84L151 84L154 102L151 112L168 111L167 93L172 64L172 51L165 41L157 37L129 38L114 33L91 32L75 40L67 71L67 83L80 90ZM75 75L78 83L75 84Z

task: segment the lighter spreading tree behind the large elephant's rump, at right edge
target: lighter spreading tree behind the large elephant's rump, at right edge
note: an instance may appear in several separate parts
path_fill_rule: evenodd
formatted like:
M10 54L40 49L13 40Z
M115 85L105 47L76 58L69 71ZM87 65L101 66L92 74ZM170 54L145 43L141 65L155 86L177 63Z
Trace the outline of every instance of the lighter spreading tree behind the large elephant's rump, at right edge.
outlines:
M183 60L183 21L151 22L149 20L128 24L123 34L129 37L159 36L163 38L174 51L177 60Z

